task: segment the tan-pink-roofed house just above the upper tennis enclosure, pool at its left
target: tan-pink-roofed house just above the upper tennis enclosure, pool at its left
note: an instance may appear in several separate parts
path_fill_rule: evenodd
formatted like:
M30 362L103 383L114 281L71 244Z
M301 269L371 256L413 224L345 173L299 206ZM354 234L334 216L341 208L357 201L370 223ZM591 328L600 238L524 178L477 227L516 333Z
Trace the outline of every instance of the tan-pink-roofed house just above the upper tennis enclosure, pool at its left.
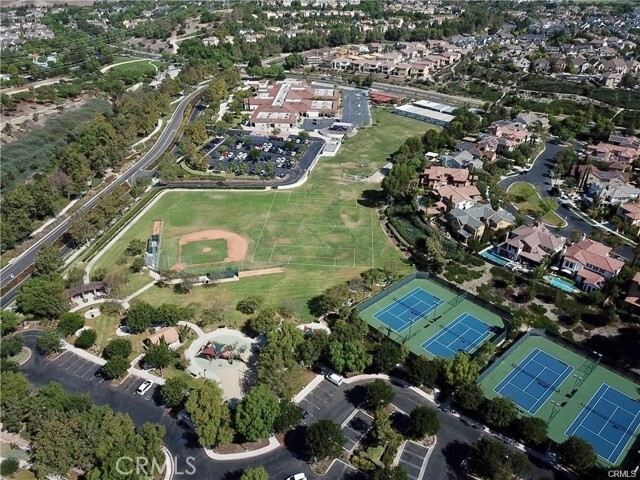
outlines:
M506 235L497 245L496 253L514 261L540 264L548 255L560 252L565 242L541 223L522 225Z

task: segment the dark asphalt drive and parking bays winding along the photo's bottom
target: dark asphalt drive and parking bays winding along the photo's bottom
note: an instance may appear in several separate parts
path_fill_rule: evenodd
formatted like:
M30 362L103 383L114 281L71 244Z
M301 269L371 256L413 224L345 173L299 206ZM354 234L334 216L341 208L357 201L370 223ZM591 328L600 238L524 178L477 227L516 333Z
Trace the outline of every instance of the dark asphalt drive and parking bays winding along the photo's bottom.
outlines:
M31 358L20 367L27 378L37 386L51 381L58 382L69 392L88 393L100 405L110 405L118 412L127 413L136 425L144 422L156 422L163 425L167 431L165 445L176 458L177 469L184 471L188 468L187 457L193 457L192 463L197 469L196 478L211 480L237 479L243 469L249 466L264 465L271 478L284 479L289 475L304 472L309 479L318 479L308 467L307 458L303 451L304 431L307 425L321 418L329 418L340 425L345 424L345 431L352 430L354 437L364 424L370 419L362 412L354 411L364 399L362 385L343 384L340 387L323 381L314 389L300 405L309 413L309 417L285 438L285 447L268 454L240 461L214 461L208 458L202 448L197 445L194 434L182 423L179 423L167 409L159 402L158 387L152 389L144 397L136 395L135 391L142 383L141 379L129 377L121 385L113 386L95 376L98 365L93 364L70 352L65 352L55 360L48 360L36 352L35 344L39 333L27 331L21 333L25 345L32 350ZM396 398L394 406L402 412L409 413L415 407L427 402L413 391L394 386ZM399 416L398 416L399 415ZM466 457L469 445L480 437L479 430L463 424L458 418L439 411L441 429L438 433L438 443L424 471L424 479L453 480L464 478L458 476L459 466ZM352 418L350 418L352 417ZM350 420L347 422L347 420ZM393 421L403 428L406 427L406 415L394 414ZM352 428L350 428L352 427ZM418 450L412 450L412 464L419 464ZM415 469L412 473L416 474ZM557 472L544 466L534 465L532 478L565 478L557 476ZM331 470L322 478L337 480L360 478L357 472L341 462L334 463Z

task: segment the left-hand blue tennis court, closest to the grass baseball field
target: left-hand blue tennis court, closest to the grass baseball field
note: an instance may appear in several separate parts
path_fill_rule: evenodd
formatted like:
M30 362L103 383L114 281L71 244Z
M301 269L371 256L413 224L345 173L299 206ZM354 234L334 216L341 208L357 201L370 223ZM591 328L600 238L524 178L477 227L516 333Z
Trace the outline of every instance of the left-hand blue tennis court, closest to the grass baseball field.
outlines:
M409 325L423 319L444 302L426 290L414 288L401 298L376 312L373 317L398 333L404 332Z

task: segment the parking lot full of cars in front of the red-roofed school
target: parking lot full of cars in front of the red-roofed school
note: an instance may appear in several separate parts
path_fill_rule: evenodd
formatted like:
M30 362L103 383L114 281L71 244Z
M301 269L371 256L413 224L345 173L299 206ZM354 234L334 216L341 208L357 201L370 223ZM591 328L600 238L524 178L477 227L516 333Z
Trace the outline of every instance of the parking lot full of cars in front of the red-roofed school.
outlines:
M309 139L249 136L234 133L216 138L204 147L210 158L209 171L285 178L310 150Z

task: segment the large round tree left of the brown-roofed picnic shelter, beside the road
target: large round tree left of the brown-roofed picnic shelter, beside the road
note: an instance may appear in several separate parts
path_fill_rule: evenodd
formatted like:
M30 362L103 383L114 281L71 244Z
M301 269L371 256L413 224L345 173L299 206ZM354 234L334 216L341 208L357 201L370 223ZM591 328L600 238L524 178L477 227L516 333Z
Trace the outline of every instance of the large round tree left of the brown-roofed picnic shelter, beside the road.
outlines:
M37 317L58 318L69 309L64 282L57 275L27 280L16 295L18 309Z

